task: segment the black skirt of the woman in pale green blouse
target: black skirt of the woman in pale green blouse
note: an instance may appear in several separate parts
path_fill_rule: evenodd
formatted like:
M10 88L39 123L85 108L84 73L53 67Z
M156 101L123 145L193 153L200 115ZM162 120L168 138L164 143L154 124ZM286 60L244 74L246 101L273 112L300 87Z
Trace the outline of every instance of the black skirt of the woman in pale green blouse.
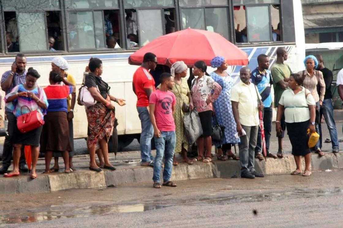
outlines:
M310 121L286 123L289 140L292 144L292 155L305 156L310 153L307 129Z

